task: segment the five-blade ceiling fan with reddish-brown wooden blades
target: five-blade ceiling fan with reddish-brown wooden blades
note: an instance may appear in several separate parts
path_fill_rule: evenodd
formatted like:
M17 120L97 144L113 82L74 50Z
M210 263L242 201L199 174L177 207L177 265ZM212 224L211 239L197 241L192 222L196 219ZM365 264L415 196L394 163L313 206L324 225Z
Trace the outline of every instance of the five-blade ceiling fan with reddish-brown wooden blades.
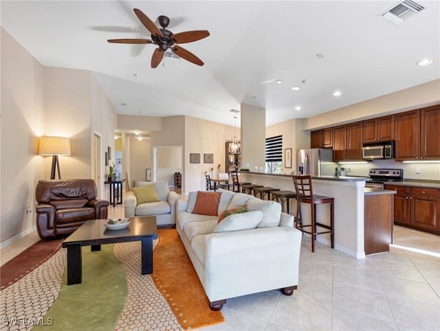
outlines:
M167 16L159 16L157 18L160 26L162 26L162 29L159 29L151 19L148 19L148 16L146 16L142 10L137 8L133 10L137 18L144 27L146 27L146 30L151 33L151 39L109 39L107 40L109 43L157 45L151 57L152 68L159 65L167 49L171 49L171 52L195 65L204 65L203 61L197 58L197 56L177 44L191 43L192 41L199 41L200 39L206 38L209 36L207 30L194 30L173 34L170 30L166 30L166 27L168 27L170 23L170 19L168 19Z

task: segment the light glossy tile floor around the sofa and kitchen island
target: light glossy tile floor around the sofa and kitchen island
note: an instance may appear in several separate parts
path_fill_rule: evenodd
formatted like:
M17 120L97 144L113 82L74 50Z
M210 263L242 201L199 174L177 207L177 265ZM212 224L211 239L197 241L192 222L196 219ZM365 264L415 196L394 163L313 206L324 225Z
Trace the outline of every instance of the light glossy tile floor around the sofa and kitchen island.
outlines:
M122 205L109 217L122 216ZM267 291L228 299L214 330L440 330L440 236L395 226L390 252L356 260L303 238L294 295ZM1 250L17 255L32 233Z

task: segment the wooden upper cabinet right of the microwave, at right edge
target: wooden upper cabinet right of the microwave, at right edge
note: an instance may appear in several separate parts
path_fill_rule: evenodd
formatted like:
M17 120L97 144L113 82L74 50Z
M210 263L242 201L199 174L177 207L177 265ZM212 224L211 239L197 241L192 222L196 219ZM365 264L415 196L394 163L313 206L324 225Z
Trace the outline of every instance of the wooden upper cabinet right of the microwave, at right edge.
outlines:
M395 159L440 159L440 105L395 115Z

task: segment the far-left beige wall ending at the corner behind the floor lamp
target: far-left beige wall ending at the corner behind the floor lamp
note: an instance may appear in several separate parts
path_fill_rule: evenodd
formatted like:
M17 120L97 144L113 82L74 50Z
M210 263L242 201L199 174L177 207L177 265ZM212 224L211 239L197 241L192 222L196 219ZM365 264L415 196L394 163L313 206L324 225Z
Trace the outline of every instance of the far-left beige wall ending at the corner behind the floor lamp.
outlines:
M43 178L38 137L44 132L44 71L1 28L1 189L0 242L32 231L34 192ZM26 207L32 212L26 213Z

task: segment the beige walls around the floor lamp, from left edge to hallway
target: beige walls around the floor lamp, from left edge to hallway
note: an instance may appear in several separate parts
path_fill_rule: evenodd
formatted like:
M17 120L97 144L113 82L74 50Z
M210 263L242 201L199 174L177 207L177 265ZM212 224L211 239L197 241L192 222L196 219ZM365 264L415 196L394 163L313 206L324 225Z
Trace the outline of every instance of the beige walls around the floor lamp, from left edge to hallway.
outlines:
M38 156L38 137L69 137L72 156L60 157L62 178L92 178L93 133L113 146L112 113L91 72L43 67L1 29L2 247L36 226L36 183L50 178L52 165L51 157Z

